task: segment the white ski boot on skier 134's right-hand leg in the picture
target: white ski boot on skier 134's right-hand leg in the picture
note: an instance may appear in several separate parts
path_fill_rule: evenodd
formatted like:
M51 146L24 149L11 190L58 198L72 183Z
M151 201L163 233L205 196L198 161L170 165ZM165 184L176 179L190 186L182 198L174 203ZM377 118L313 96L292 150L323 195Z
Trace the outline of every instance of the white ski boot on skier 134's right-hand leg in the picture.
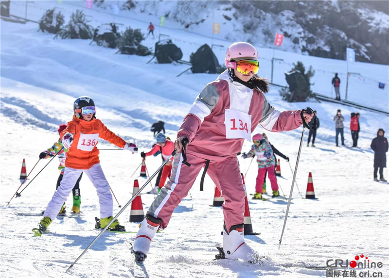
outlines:
M250 246L247 245L243 238L244 225L234 225L228 234L226 227L223 225L223 250L226 259L241 259L246 262L256 263L260 257Z

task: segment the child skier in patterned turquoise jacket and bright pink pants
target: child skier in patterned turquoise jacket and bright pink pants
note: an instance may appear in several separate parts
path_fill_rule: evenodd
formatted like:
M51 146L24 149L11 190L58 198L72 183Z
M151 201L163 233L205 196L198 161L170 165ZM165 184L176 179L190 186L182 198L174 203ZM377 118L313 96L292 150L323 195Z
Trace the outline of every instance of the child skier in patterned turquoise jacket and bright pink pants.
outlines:
M266 171L269 173L271 189L273 190L272 197L278 197L280 196L280 193L278 192L277 179L274 173L274 165L276 164L276 159L273 150L267 139L262 136L262 134L255 134L252 137L252 141L254 145L252 145L250 151L248 153L244 153L242 157L245 159L248 157L257 157L258 176L253 199L262 199L262 191Z

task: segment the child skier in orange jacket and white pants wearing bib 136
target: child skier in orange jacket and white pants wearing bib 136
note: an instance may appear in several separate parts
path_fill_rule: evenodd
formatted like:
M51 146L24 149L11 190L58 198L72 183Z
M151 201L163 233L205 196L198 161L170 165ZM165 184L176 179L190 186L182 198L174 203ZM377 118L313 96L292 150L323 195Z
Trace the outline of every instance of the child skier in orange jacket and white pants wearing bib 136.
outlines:
M57 191L54 192L52 200L47 205L43 218L40 220L38 229L33 229L35 235L42 235L58 214L63 202L66 201L71 189L82 172L85 172L89 180L96 188L100 203L101 228L112 219L113 201L110 187L99 161L99 150L96 145L99 137L131 152L138 152L135 144L125 142L106 126L96 119L94 101L86 96L79 97L73 104L73 119L68 123L65 130L60 133L62 144L68 149L64 176ZM109 229L123 231L116 219Z

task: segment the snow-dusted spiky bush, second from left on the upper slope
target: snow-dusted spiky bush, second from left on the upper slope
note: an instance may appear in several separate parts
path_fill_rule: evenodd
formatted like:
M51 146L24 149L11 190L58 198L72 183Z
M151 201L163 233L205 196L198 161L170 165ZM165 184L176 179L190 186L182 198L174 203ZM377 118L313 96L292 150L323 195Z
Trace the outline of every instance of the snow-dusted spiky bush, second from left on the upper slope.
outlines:
M71 15L69 23L55 37L59 35L63 39L91 39L94 29L88 24L89 21L82 11L77 10Z

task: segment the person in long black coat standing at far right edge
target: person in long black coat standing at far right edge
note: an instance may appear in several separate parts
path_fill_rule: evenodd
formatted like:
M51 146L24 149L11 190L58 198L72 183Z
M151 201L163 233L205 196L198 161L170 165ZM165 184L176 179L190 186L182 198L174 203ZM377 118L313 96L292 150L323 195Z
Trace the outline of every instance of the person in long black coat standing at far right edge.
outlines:
M385 131L379 129L377 131L377 137L371 141L371 149L374 151L374 181L378 181L377 172L379 168L380 180L387 181L384 179L384 168L386 167L386 152L388 151L388 139L384 137Z

